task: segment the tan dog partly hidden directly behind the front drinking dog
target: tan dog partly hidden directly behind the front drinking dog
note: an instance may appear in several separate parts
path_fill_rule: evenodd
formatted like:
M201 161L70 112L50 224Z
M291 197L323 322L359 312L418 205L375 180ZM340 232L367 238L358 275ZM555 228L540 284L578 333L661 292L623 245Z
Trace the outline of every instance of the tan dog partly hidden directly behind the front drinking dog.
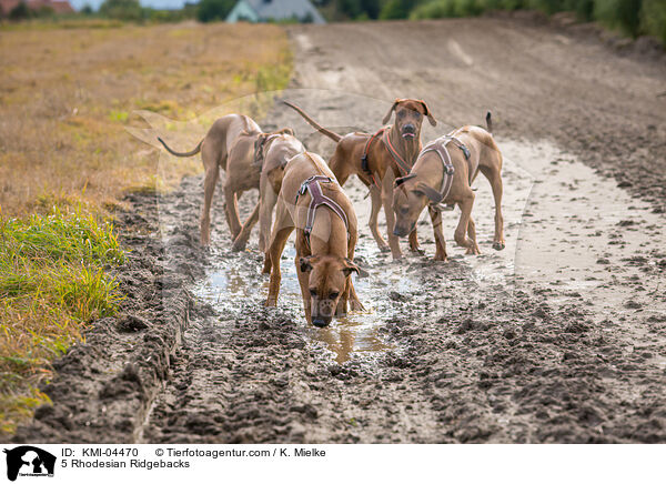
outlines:
M259 203L254 210L259 211L260 252L265 253L269 245L273 209L282 186L284 167L290 159L304 151L305 147L293 135L293 132L268 135L258 148L255 160L262 161L262 169L259 180ZM242 251L245 248L254 223L256 218L250 216L233 242L232 250Z

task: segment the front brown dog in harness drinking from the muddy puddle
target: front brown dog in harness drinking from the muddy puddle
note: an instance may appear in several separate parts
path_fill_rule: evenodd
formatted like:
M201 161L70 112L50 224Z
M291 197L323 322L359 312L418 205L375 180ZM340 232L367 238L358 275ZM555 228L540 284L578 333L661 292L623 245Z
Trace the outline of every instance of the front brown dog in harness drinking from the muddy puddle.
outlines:
M359 273L352 262L357 239L354 209L324 160L309 152L292 158L284 168L264 262L264 273L271 273L266 306L278 304L280 259L294 229L306 320L324 327L333 315L346 313L347 302L352 310L362 310L351 279L352 272Z

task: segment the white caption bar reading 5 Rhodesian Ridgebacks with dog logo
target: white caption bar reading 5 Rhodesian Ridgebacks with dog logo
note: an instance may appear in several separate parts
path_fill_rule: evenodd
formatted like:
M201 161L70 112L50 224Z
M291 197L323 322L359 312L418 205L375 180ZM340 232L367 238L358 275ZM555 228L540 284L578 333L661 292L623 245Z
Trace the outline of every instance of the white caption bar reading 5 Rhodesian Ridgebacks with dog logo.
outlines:
M666 482L663 445L4 445L3 482ZM8 481L9 480L9 481Z

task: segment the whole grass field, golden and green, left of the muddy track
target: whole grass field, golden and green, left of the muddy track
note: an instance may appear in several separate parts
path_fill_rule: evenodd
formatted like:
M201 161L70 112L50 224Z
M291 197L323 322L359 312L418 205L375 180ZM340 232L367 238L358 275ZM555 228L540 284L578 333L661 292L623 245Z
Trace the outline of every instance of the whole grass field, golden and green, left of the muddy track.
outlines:
M118 306L103 271L123 260L109 210L127 190L201 169L196 159L159 167L128 133L145 128L133 112L204 130L210 117L199 114L282 89L291 73L275 26L65 27L0 27L1 432L46 401L48 362Z

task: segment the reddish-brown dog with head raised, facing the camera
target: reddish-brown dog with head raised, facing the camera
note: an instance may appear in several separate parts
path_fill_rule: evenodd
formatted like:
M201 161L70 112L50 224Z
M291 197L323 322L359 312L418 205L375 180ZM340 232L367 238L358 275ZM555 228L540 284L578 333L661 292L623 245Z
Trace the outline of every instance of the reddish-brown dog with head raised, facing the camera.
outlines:
M386 124L395 112L395 122L382 128L374 134L349 133L344 137L321 127L299 107L285 101L314 129L331 138L337 143L329 165L340 184L344 185L351 174L370 186L372 210L370 214L370 230L382 252L391 250L393 259L400 259L402 251L398 239L393 233L393 181L406 175L416 157L421 152L421 124L427 118L434 127L437 121L424 101L416 99L396 99L382 120ZM386 215L389 245L377 229L377 215L381 206ZM410 233L410 249L418 251L416 229Z

